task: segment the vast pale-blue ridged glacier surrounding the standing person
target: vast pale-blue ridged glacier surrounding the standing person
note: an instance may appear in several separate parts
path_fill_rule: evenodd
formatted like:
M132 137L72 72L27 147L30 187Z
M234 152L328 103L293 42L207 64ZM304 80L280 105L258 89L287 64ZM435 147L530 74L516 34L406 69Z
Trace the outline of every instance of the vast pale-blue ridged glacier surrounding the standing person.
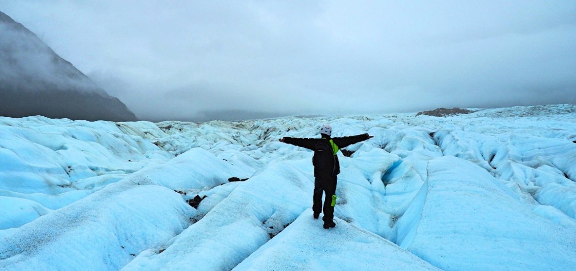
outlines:
M576 270L576 106L470 110L0 117L0 269ZM331 229L312 152L278 141L323 123L374 136L338 154Z

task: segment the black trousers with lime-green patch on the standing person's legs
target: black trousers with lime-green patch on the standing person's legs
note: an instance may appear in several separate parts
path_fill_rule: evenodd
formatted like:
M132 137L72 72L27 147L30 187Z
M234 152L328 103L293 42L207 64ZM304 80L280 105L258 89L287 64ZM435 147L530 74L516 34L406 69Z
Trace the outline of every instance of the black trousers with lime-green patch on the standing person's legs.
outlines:
M334 219L334 206L332 206L332 195L336 195L336 176L317 176L314 180L314 196L312 198L312 210L314 213L321 213L322 192L326 194L324 198L324 223L329 223Z

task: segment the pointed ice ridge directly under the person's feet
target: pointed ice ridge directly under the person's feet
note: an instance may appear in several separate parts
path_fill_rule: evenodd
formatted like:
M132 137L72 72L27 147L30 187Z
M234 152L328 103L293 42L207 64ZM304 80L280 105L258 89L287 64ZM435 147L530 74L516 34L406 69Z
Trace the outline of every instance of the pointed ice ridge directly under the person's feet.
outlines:
M336 219L326 231L312 209L233 270L438 270L396 244Z

